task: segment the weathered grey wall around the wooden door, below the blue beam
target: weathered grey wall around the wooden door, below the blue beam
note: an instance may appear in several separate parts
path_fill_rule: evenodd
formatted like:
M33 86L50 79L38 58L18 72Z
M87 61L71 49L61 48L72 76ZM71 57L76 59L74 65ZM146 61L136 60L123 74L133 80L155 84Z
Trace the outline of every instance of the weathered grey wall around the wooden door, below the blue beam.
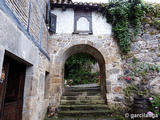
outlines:
M49 103L48 98L44 99L45 72L50 72L49 60L1 10L0 18L0 71L5 50L31 64L25 77L23 120L42 120Z

